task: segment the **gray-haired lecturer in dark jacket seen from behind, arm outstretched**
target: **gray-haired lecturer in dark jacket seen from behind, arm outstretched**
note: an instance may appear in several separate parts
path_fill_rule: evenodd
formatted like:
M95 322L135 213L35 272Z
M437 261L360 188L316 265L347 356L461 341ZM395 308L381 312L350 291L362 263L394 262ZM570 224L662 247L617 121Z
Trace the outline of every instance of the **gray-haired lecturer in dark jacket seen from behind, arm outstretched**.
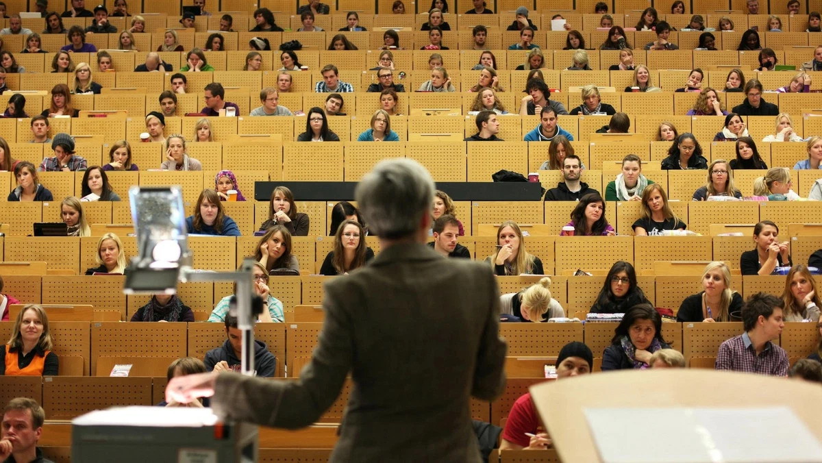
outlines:
M215 413L279 428L312 424L353 389L331 461L481 461L469 396L505 382L491 268L426 246L434 184L422 165L384 160L355 191L381 252L325 285L326 322L298 381L232 373L173 378L167 400L213 396Z

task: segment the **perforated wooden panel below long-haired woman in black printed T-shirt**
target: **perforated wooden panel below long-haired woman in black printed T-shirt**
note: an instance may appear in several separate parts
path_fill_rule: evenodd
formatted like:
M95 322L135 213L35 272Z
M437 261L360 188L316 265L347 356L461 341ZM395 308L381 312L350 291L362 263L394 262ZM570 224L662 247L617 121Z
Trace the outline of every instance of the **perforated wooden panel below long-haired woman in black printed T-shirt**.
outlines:
M657 261L710 261L709 236L637 236L634 238L637 271L653 269Z

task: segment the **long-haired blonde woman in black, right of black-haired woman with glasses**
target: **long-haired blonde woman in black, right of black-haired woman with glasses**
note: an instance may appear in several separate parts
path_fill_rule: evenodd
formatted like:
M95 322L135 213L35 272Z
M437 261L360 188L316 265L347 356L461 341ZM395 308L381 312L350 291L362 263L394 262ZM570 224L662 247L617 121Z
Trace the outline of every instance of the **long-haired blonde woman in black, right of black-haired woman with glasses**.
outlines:
M703 290L682 301L677 322L738 322L742 296L731 289L731 270L725 262L710 262L702 272Z

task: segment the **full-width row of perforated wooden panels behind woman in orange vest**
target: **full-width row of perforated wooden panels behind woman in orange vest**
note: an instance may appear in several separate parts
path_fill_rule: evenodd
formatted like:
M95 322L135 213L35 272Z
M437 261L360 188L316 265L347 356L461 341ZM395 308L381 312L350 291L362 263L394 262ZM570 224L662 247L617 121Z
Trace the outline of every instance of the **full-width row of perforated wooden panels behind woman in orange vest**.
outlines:
M0 332L11 336L13 325L0 323ZM508 343L506 368L523 368L514 377L542 377L541 368L529 371L529 359L521 358L536 357L538 363L547 363L547 358L556 357L563 345L575 340L587 344L594 357L602 357L616 326L616 322L503 323L500 336ZM311 359L321 328L321 322L260 323L255 336L277 357L277 377L298 377ZM116 363L132 363L132 377L161 376L174 359L187 355L202 359L226 339L222 323L50 322L49 329L53 352L65 367L61 376L69 377L108 376ZM715 357L719 345L741 331L741 322L667 322L662 336L686 360L693 360ZM806 357L819 344L815 323L786 323L776 344L789 357Z

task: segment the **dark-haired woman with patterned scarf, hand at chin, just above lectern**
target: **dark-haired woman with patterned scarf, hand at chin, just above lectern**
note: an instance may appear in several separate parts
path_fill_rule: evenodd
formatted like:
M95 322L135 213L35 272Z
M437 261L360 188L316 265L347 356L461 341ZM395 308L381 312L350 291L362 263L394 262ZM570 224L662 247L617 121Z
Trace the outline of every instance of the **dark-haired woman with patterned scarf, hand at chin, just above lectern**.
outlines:
M629 308L603 352L603 372L649 368L654 352L671 349L662 335L663 319L651 304Z

